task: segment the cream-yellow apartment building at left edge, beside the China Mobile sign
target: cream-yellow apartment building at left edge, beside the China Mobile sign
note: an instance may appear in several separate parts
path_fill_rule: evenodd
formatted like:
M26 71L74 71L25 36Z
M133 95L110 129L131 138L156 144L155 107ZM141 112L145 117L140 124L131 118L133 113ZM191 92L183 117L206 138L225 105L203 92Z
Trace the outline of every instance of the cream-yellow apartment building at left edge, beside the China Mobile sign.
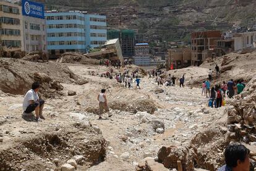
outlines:
M23 51L22 8L0 1L0 50Z

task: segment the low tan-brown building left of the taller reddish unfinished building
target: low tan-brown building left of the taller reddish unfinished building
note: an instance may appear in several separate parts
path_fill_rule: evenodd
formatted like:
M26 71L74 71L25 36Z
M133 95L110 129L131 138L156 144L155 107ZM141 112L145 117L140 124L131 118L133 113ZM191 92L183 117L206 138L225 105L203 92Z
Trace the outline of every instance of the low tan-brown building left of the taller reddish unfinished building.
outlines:
M181 69L184 67L189 67L191 65L191 49L190 48L168 49L167 70L171 69L171 64L173 64L173 69Z

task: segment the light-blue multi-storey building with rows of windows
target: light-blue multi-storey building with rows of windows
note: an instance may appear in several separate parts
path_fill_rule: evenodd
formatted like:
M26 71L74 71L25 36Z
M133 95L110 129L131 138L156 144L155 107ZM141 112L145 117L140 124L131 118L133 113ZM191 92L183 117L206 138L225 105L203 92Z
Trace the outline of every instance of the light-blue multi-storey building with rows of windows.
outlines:
M49 54L86 52L105 44L106 16L80 11L45 13Z

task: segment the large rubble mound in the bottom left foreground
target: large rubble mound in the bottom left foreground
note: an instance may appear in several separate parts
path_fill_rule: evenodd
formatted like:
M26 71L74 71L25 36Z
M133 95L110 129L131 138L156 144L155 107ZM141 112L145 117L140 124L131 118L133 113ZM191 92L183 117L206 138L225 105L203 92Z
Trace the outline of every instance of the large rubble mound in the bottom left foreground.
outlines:
M0 149L1 170L65 170L70 165L86 170L106 156L106 140L90 123L22 133L27 135L22 141Z

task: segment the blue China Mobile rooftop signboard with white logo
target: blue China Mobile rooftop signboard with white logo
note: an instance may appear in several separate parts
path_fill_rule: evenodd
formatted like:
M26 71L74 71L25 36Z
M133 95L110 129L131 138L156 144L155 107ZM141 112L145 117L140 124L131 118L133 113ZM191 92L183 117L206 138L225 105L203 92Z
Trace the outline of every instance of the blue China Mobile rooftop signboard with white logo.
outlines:
M22 0L22 15L45 19L45 6L37 2Z

